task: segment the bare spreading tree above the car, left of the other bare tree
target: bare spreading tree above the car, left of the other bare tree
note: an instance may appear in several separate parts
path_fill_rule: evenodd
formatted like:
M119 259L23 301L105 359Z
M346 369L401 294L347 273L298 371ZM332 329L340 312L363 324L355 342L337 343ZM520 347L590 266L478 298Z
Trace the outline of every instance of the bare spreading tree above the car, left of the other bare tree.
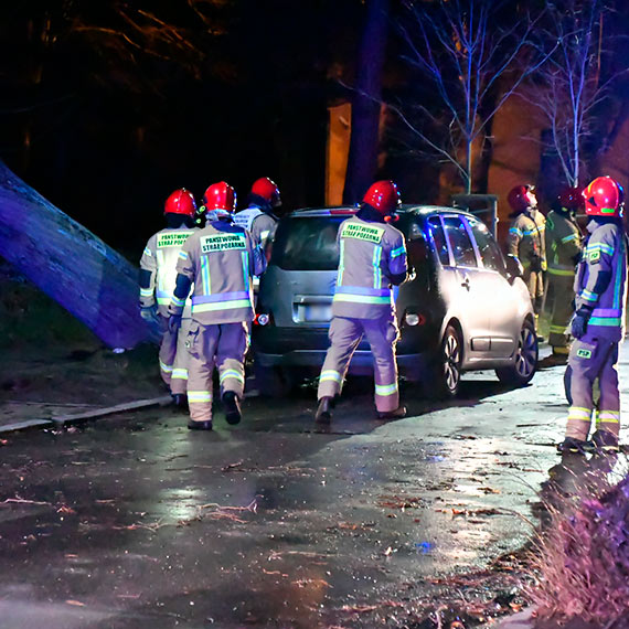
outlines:
M401 25L404 58L427 83L420 103L391 107L425 150L455 167L468 193L475 146L484 142L507 99L554 52L533 45L542 13L533 19L507 4L408 1Z

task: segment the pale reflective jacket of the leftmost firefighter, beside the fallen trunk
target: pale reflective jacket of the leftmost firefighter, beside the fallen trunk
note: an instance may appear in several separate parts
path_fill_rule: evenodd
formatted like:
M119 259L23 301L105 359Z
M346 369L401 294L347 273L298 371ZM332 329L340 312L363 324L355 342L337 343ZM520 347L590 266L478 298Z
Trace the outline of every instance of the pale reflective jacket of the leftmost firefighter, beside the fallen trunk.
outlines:
M196 232L185 225L174 230L161 230L153 234L140 259L140 268L150 271L149 286L140 288L140 306L150 308L157 301L158 311L168 317L168 306L177 279L179 252L188 237ZM186 300L183 317L190 317L190 300Z

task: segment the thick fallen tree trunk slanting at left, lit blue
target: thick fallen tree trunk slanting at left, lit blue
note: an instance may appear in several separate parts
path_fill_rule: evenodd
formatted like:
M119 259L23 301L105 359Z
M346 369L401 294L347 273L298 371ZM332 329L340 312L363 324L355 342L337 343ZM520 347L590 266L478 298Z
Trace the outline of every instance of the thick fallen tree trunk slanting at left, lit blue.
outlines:
M138 269L0 162L0 254L110 348L157 341Z

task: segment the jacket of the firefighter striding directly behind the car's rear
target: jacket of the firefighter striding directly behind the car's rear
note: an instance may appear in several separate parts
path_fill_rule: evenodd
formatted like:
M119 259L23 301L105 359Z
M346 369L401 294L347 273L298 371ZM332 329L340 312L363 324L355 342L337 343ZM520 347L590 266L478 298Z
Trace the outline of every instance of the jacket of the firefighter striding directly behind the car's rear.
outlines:
M401 284L407 273L402 232L388 223L356 216L339 226L339 273L332 314L350 319L379 319L394 311L392 279ZM397 276L397 278L396 278Z

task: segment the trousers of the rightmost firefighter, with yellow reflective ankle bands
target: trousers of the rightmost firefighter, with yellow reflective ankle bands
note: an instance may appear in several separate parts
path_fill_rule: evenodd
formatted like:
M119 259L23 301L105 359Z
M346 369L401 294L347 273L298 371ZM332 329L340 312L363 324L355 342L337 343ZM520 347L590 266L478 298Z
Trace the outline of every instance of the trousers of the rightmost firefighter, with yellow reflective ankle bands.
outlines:
M566 437L586 440L593 414L597 430L620 431L620 393L618 391L618 342L607 339L579 339L573 342L568 358L572 397ZM594 404L594 382L598 377L600 397Z

